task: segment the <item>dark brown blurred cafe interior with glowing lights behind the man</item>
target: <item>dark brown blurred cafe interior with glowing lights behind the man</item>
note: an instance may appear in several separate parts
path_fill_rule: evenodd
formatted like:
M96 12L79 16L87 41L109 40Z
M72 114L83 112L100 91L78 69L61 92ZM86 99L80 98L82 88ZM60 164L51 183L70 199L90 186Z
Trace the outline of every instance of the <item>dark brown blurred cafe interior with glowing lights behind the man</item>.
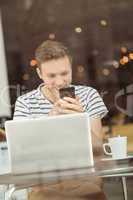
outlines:
M127 136L132 155L133 1L0 0L0 13L0 48L6 61L1 73L6 69L10 97L10 111L0 113L0 141L6 141L4 123L13 117L16 98L41 83L31 66L36 47L44 40L57 40L71 50L73 83L97 89L108 108L102 119L104 142ZM109 200L124 199L120 179L105 178ZM133 178L126 179L132 200Z

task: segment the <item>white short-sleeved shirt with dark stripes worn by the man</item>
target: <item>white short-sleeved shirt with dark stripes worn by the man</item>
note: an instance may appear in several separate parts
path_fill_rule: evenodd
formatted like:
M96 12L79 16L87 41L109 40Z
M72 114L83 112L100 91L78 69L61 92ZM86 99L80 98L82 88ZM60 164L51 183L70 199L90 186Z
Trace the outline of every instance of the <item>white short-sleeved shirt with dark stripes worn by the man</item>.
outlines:
M41 86L42 84L37 89L17 98L14 119L48 116L53 104L42 94ZM80 103L89 117L102 118L106 115L107 108L97 90L87 86L73 86L75 95L79 96Z

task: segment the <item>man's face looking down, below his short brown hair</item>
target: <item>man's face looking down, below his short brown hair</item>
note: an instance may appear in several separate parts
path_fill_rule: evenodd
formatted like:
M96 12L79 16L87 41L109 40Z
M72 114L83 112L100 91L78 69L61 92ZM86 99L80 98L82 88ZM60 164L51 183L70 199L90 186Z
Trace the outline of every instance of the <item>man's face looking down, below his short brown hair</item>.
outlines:
M49 88L64 88L72 81L72 68L67 56L42 63L37 72Z

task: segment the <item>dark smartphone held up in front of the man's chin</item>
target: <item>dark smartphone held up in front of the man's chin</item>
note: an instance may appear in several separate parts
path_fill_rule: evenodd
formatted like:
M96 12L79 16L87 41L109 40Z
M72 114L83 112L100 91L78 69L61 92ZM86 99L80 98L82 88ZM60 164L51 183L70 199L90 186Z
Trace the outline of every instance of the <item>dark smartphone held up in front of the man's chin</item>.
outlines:
M63 97L71 97L75 98L75 87L67 87L67 88L61 88L59 90L60 93L60 98L62 99Z

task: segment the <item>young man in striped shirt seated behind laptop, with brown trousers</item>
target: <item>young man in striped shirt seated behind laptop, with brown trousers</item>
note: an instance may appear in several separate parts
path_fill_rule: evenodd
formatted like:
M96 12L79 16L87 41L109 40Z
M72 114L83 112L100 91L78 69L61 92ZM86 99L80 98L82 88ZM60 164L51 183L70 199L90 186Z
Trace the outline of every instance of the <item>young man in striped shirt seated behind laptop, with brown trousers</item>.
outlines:
M101 144L101 118L107 113L107 109L98 92L91 87L74 85L76 98L60 99L59 89L70 86L72 82L72 57L68 49L60 42L45 41L37 48L35 59L36 71L43 83L37 89L17 99L14 119L86 112L90 117L94 146ZM98 183L93 184L98 189ZM36 191L30 199L39 199L39 197L40 199L89 199L90 193L92 195L95 192L92 184L87 183L87 180L81 181L80 186L75 180L60 183L57 187L54 185L53 188L54 190L47 188L43 192ZM97 191L99 193L100 189ZM92 199L92 196L90 198Z

